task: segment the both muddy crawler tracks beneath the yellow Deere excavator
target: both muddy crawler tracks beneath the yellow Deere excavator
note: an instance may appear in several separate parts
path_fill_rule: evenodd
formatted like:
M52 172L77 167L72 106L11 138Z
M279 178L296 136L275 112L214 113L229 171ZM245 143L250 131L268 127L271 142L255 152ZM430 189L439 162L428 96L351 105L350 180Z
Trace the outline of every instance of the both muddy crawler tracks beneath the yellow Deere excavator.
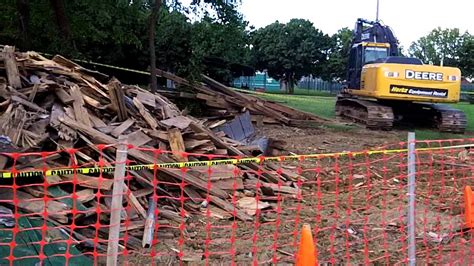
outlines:
M458 134L464 133L467 127L464 112L443 104L377 102L338 96L336 115L364 124L369 129L391 130L395 123L407 121L414 126L429 126L441 132Z

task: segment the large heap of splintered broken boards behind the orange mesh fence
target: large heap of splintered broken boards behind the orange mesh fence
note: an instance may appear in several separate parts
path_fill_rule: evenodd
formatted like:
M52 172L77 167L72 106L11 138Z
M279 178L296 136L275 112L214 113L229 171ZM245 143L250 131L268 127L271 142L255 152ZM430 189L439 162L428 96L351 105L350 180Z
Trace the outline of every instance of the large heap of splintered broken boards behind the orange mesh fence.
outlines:
M121 84L117 79L107 80L105 75L85 69L61 56L48 59L35 52L15 52L14 48L7 46L0 51L0 135L8 136L12 142L11 149L4 148L1 152L58 151L43 157L37 156L36 159L19 158L15 163L16 170L67 168L71 165L93 167L98 166L99 161L105 166L113 166L116 148L112 145L116 145L123 136L135 147L173 152L157 156L152 152L130 149L128 159L131 164L208 159L204 155L182 156L182 152L247 156L245 147L229 144L222 134L210 131L203 121L184 116L174 104L159 94ZM101 151L99 144L111 146ZM76 152L61 152L71 148L77 149ZM0 170L8 171L12 165L11 158L0 155ZM278 167L271 163L265 166L248 163L238 167L242 174L237 177L236 193L245 202L257 192L257 177L252 171L261 167L264 167L264 173L260 177L262 188L259 193L297 193L295 181L299 177L290 171L280 169L280 174L277 174L275 170ZM229 213L234 211L231 200L234 193L233 169L234 166L228 165L213 167L217 174L211 178L212 188L209 192L207 168L202 171L190 169L185 174L160 168L157 179L177 185L158 187L154 186L156 182L152 170L128 171L131 180L129 183L127 181L125 189L131 193L125 193L123 205L131 206L132 212L122 218L130 220L133 225L128 227L129 240L137 240L129 241L128 248L141 248L148 199L154 191L170 199L158 202L160 215L157 219L160 223L181 222L181 202L171 199L180 197L179 183L182 179L187 184L184 188L187 197L184 202L186 217L200 215L204 211L202 206L208 204L203 204L203 199L209 193L211 202L208 206L213 217L229 219ZM219 175L219 171L223 174ZM71 182L75 178L78 184L72 186ZM97 204L105 214L107 210L110 212L111 197L102 197L97 202L96 194L100 191L102 195L111 195L113 173L103 174L103 178L105 180L99 181L97 175L83 174L41 176L39 180L17 177L15 182L20 184L16 192L20 201L18 208L23 213L40 215L44 203L41 200L35 204L30 201L42 199L44 193L48 193L51 198L48 212L56 213L49 217L50 222L68 225L74 218L76 230L72 232L73 237L88 239L91 232L95 232L97 218L94 211ZM48 182L47 191L44 189L44 179ZM276 185L279 180L282 182ZM80 219L72 217L71 213L60 214L73 207L70 201L64 200L64 197L71 195L72 187L78 196L76 207L87 213ZM13 199L12 190L5 185L0 186L0 190L0 205L12 209L12 202L7 203ZM245 207L248 205L242 206L237 206L237 218L251 221L255 210L252 210L252 206L250 210ZM101 224L108 225L109 218L108 215L101 215ZM100 232L101 237L107 239L107 227L101 228Z

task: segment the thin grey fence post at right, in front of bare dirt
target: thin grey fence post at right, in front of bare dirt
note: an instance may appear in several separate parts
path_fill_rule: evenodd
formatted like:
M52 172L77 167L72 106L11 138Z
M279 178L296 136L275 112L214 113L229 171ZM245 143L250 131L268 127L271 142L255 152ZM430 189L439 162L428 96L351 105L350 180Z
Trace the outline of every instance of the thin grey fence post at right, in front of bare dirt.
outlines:
M408 265L416 264L415 242L415 188L416 188L416 151L415 133L408 133Z

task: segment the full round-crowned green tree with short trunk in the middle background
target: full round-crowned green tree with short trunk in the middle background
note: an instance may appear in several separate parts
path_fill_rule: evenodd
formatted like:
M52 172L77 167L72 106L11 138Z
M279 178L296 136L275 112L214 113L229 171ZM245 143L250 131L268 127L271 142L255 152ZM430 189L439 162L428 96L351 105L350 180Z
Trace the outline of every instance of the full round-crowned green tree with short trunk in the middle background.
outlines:
M294 92L295 81L302 76L323 72L331 46L331 38L304 19L292 19L287 24L277 21L256 30L252 39L257 68L284 80L289 93Z

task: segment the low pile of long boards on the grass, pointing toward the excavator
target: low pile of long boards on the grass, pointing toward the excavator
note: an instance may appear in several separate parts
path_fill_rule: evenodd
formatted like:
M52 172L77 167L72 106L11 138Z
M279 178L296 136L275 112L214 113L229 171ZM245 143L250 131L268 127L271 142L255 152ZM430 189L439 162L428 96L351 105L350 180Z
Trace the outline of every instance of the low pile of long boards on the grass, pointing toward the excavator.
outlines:
M207 86L190 83L184 78L162 70L158 71L158 75L191 89L190 92L181 93L162 91L164 95L169 98L199 100L207 105L207 111L211 113L211 118L214 119L232 117L249 110L253 119L260 123L284 124L301 128L314 128L334 123L329 119L296 110L274 101L240 93L205 75L202 76L202 79Z

